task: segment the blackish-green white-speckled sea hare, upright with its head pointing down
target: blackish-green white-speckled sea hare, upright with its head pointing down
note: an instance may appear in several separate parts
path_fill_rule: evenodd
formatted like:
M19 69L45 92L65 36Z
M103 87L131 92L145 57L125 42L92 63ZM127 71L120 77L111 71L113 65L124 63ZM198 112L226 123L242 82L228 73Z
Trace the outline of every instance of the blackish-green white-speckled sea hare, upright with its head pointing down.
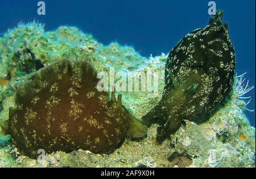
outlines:
M207 114L232 89L236 59L222 15L217 11L208 26L192 31L171 50L162 99L142 118L145 124L160 123L158 141L176 132L181 120Z

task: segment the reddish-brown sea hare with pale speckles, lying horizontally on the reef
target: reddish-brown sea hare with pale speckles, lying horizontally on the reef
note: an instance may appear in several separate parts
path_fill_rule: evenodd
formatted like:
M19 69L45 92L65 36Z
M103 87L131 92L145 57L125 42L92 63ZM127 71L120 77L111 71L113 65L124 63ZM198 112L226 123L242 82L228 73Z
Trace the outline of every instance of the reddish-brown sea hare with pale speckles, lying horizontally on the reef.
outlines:
M85 61L60 60L18 85L6 132L19 152L36 157L86 149L112 152L129 136L141 138L147 128L122 105L122 96L97 90L97 71Z

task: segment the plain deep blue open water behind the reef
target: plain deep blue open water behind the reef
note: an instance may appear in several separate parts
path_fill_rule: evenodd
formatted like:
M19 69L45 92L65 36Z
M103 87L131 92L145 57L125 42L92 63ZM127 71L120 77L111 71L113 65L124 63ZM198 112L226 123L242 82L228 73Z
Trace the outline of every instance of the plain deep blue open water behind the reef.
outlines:
M0 33L20 21L34 19L46 30L76 26L104 44L117 41L133 46L141 55L168 53L184 35L209 22L209 1L82 1L44 0L46 15L37 14L36 0L1 0ZM255 85L255 1L215 1L225 11L229 35L237 57L237 73ZM255 90L249 109L255 109ZM246 112L255 126L255 113Z

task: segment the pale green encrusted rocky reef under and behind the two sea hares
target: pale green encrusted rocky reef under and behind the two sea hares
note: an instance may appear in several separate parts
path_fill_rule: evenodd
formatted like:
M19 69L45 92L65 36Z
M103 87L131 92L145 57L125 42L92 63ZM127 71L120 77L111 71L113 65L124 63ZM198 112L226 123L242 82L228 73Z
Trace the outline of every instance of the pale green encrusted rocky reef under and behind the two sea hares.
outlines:
M109 67L115 72L158 72L156 97L149 97L152 91L122 92L123 105L141 119L162 98L167 56L142 57L132 47L104 45L76 27L46 32L43 24L20 23L0 37L0 126L9 119L9 107L15 107L16 85L60 59L89 61L98 72L109 72ZM35 160L21 155L0 128L0 167L255 167L255 128L244 114L247 102L239 98L246 91L241 91L242 77L235 77L232 93L205 120L184 120L161 145L155 142L158 125L153 124L146 138L125 139L108 155L79 149Z

